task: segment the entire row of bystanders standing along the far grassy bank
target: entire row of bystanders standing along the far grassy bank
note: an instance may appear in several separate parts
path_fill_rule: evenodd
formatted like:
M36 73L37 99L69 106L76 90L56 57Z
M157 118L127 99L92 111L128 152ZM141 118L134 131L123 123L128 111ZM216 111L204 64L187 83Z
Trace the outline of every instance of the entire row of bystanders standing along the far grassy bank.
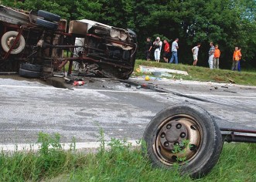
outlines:
M151 60L152 51L154 52L155 61L160 61L160 54L162 49L162 44L164 44L164 52L163 52L163 59L165 62L172 63L173 60L175 60L175 63L178 64L178 45L179 39L175 39L175 41L172 42L172 47L170 49L169 43L166 39L162 42L159 37L155 39L155 42L152 42L151 39L147 38L147 45L146 45L146 59L148 61ZM198 52L201 44L198 43L196 46L193 47L192 53L193 53L193 66L196 66L198 61ZM172 56L170 58L170 52L172 52ZM220 68L220 49L219 45L213 45L213 42L210 42L210 49L208 52L209 59L209 67L210 69L219 69ZM233 55L233 64L232 64L232 70L241 71L240 66L240 60L241 60L241 49L238 49L238 47L235 47L234 49L234 55ZM170 58L170 59L169 59Z

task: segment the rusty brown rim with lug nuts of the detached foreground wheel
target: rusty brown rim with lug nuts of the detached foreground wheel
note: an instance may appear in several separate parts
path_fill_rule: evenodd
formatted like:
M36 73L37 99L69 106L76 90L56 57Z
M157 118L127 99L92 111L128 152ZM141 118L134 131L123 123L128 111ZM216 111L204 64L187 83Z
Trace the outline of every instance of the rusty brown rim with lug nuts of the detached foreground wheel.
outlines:
M179 114L164 120L155 136L154 151L162 163L183 165L196 157L203 141L203 130L191 116Z

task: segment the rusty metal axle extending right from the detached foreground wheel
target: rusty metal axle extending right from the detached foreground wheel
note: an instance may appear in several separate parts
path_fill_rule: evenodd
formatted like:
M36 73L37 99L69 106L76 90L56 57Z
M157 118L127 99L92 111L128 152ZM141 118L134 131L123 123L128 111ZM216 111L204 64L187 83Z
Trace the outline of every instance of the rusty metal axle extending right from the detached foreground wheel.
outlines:
M256 130L220 128L220 131L225 142L256 143Z

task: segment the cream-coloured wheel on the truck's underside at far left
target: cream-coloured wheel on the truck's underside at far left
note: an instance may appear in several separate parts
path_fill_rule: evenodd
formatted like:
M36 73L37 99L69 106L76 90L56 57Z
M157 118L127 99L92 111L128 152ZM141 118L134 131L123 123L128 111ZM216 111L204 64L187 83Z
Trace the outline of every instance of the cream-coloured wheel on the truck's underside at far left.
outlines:
M9 52L19 32L9 31L2 35L1 45L5 52ZM22 35L20 35L18 42L11 51L11 54L19 54L25 48L26 42Z

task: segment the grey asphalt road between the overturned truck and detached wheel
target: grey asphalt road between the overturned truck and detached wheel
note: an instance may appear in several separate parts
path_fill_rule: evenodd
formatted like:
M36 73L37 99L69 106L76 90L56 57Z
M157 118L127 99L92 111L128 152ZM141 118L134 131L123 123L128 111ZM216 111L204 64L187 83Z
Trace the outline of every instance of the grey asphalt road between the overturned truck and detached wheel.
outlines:
M85 86L59 89L35 80L0 78L0 144L35 143L39 132L60 133L69 143L111 138L138 140L148 122L167 106L196 103L220 127L256 130L256 87L183 80L86 79ZM136 84L156 89L136 89ZM159 93L164 89L164 93Z

